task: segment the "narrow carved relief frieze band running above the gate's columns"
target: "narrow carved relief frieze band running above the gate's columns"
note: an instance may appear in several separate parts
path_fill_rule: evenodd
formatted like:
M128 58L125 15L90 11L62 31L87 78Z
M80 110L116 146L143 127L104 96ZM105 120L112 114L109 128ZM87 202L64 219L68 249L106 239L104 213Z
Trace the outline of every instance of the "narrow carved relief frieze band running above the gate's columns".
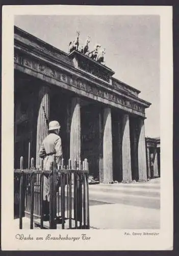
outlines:
M115 93L108 92L105 89L97 88L93 84L89 84L80 79L76 80L74 77L67 76L66 74L63 74L62 72L59 72L55 69L49 68L47 65L42 64L38 61L30 60L29 58L24 59L23 56L14 54L14 62L18 63L21 66L28 67L39 73L42 73L43 75L47 75L59 81L62 80L68 83L69 85L81 89L85 92L92 93L93 95L99 96L104 99L108 99L112 102L120 104L121 106L127 106L128 108L137 110L143 114L145 113L145 109L142 106L140 106L137 102L127 100Z

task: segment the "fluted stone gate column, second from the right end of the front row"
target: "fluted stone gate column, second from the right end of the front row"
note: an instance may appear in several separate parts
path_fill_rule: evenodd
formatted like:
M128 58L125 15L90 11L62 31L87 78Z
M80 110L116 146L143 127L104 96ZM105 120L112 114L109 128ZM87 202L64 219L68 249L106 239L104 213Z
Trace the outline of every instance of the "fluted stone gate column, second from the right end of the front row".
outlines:
M122 126L122 182L127 183L132 181L129 114L123 115Z

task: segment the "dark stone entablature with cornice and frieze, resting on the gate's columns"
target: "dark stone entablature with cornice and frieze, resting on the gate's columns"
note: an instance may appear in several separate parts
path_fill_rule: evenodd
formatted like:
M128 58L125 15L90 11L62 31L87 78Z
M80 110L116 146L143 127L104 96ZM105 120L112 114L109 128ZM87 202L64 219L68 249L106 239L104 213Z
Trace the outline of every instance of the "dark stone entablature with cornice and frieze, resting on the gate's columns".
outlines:
M124 111L145 117L145 108L148 108L150 103L138 98L134 93L132 93L133 88L130 86L127 87L126 85L123 90L122 88L115 88L112 80L114 81L117 79L111 79L114 74L112 70L100 63L94 63L95 68L97 66L100 67L99 71L97 71L98 74L103 71L104 74L108 74L108 77L110 77L111 82L105 81L103 80L104 78L96 77L96 75L83 70L81 61L89 59L89 63L95 62L89 57L83 56L83 54L78 52L76 53L76 51L69 54L72 58L72 62L74 62L74 58L76 59L76 56L78 56L78 67L76 68L75 65L70 65L70 61L65 64L65 61L59 59L56 56L56 51L57 49L54 51L54 54L49 54L50 51L44 51L44 49L39 49L37 46L30 44L29 38L28 41L25 41L19 35L15 35L15 69L29 74L33 73L33 75L39 76L44 80L46 79L45 76L47 76L48 78L59 81L59 84L61 85L62 82L67 84L67 90L74 91L75 88L75 92L79 92L79 94L85 95L86 97L94 98L98 101L114 105ZM37 72L38 74L31 71ZM131 93L129 93L129 90L131 90ZM133 91L135 93L139 92L136 89Z

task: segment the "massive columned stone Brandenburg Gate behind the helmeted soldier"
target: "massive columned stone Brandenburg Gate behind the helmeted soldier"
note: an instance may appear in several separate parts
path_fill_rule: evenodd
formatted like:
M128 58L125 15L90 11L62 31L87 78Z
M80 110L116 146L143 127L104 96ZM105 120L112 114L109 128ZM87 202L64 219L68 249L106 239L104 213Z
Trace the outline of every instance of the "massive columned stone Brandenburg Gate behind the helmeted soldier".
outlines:
M78 47L65 53L14 27L15 168L20 156L28 167L29 154L39 167L45 111L61 124L66 161L87 158L101 183L147 180L144 120L150 103L102 62L95 51L94 57Z

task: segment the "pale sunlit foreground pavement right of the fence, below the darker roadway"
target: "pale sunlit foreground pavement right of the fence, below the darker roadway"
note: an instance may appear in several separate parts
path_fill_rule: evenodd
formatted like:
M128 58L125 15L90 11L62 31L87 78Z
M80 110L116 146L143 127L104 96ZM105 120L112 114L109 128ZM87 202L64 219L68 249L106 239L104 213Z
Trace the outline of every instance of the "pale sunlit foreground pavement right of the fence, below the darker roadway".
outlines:
M90 227L97 229L158 229L160 210L123 204L90 206Z

